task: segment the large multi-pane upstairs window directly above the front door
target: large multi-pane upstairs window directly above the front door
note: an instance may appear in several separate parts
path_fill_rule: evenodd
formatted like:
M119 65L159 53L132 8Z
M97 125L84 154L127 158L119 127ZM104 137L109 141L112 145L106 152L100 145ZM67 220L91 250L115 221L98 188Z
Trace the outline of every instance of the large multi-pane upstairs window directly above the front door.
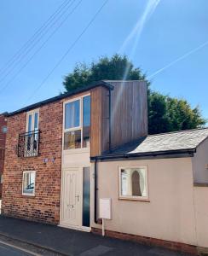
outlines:
M65 103L64 149L90 147L90 96Z

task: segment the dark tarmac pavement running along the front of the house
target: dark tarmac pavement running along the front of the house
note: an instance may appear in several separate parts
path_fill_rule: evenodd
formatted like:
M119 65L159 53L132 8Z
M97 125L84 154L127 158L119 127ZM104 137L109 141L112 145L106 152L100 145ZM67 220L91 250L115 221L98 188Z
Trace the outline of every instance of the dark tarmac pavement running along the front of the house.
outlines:
M0 255L2 238L20 241L28 246L49 250L55 255L68 256L179 256L187 253L173 252L164 248L150 247L131 241L122 241L92 233L70 230L49 224L40 224L0 215ZM3 245L2 245L3 246ZM5 247L4 249L8 249ZM19 253L19 252L17 252ZM43 255L42 253L40 253ZM19 254L5 254L19 255ZM25 254L20 254L25 255Z

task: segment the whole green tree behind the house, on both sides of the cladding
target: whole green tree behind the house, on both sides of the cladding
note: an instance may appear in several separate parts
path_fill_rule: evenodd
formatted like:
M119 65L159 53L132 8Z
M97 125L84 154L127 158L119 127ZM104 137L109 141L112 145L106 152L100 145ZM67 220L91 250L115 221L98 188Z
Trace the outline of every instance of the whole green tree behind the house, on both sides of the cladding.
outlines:
M77 64L72 73L65 76L63 85L66 91L70 91L104 79L143 80L146 75L140 68L134 67L127 56L113 55L111 58L101 57L90 65ZM205 125L206 120L202 118L199 107L191 108L185 100L150 90L148 81L147 84L149 134L194 129Z

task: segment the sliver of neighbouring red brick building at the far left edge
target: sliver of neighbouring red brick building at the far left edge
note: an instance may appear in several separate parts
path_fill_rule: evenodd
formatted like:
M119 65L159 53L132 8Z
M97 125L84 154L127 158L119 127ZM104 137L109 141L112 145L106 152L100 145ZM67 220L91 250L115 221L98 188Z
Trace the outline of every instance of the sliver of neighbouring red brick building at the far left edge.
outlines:
M0 114L0 175L3 175L4 150L6 142L6 133L3 133L3 126L7 125L7 121L3 114ZM0 198L2 198L2 183L0 183Z

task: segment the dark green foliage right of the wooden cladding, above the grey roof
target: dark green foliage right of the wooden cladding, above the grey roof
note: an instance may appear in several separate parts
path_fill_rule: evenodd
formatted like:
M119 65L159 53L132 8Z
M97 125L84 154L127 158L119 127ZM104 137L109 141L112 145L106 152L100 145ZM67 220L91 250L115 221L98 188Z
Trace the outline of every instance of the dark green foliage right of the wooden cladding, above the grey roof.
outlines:
M182 131L205 125L199 106L191 108L183 99L161 95L151 91L148 96L148 131L149 134Z

